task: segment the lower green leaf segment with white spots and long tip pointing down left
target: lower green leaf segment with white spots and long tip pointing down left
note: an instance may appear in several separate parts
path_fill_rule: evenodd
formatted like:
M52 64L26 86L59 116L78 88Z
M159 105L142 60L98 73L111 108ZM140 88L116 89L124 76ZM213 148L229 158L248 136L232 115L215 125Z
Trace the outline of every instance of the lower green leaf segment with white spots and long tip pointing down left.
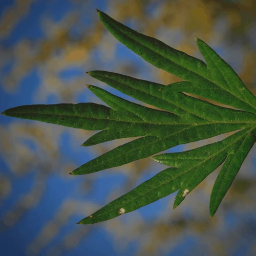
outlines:
M205 177L213 172L227 157L232 154L241 140L244 140L250 130L240 131L228 138L206 146L181 153L162 154L153 157L155 161L171 165L143 182L124 196L107 204L94 214L82 219L78 224L93 224L115 218L121 214L134 211L142 206L153 203L179 189L177 198L181 201ZM249 136L250 138L253 138ZM253 139L251 139L253 140ZM254 138L255 140L255 138ZM200 170L201 173L197 173ZM198 177L199 179L194 179ZM188 191L187 191L188 190ZM180 203L180 202L179 202ZM174 208L178 206L175 203ZM123 210L121 210L123 209Z

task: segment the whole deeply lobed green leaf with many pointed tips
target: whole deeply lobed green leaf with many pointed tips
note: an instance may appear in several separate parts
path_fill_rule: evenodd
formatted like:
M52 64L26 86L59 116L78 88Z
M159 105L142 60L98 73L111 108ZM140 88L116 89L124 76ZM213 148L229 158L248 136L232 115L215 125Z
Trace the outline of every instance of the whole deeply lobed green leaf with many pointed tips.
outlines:
M214 216L256 141L254 95L232 68L202 40L196 38L207 65L200 59L118 23L101 11L97 13L105 27L122 44L155 67L186 81L163 86L105 71L88 74L124 94L165 111L146 108L88 85L111 108L95 103L24 105L2 114L84 130L102 130L84 142L83 146L119 138L141 137L81 165L72 175L99 172L152 156L176 145L239 130L222 141L194 150L152 157L157 162L173 167L163 170L78 223L92 224L109 220L179 190L175 208L224 162L210 197L210 217ZM211 99L237 110L211 104L185 93Z

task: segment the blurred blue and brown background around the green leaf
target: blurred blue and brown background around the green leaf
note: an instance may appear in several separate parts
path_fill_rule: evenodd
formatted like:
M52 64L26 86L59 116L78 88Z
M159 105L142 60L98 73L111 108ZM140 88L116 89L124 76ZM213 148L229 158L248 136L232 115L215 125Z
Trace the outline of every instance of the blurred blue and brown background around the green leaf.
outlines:
M195 36L203 39L256 93L254 0L2 0L1 112L35 103L102 104L86 83L137 102L91 78L86 74L91 70L162 84L180 80L122 46L100 23L95 8L198 58ZM5 116L0 122L1 255L256 255L255 147L212 220L209 198L218 170L174 211L175 195L170 195L83 226L75 223L165 166L143 159L71 176L77 166L129 140L81 147L94 132Z

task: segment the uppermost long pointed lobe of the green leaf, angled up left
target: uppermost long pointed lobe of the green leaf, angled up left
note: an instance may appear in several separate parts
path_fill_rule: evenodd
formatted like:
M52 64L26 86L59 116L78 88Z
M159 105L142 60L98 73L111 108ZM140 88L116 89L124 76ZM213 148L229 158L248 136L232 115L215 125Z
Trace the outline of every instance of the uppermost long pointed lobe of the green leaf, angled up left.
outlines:
M98 11L104 26L126 47L140 55L155 67L179 76L185 80L205 82L207 67L205 63L184 52L175 50L163 42L117 22L104 12Z

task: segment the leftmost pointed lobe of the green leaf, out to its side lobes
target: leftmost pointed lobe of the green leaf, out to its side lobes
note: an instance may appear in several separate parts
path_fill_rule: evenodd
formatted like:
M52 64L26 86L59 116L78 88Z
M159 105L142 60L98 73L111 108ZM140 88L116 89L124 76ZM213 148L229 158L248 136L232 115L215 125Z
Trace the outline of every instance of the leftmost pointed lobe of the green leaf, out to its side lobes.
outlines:
M62 103L17 106L4 111L2 114L84 130L102 130L110 122L111 109L95 103Z

